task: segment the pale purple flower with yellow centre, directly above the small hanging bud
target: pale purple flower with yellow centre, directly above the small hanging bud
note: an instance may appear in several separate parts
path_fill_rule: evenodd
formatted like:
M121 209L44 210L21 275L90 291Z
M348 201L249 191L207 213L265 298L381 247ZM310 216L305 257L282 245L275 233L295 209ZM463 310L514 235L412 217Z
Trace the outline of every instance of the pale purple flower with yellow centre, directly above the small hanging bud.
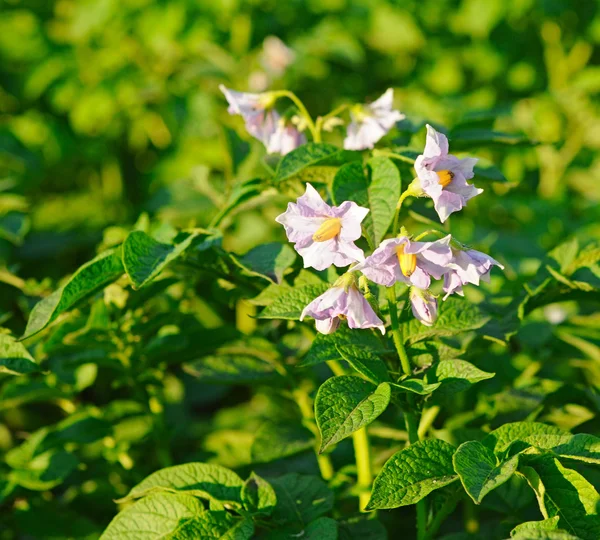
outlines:
M427 289L431 277L440 279L448 271L450 239L450 235L435 242L411 242L406 236L390 238L353 270L386 287L400 281Z

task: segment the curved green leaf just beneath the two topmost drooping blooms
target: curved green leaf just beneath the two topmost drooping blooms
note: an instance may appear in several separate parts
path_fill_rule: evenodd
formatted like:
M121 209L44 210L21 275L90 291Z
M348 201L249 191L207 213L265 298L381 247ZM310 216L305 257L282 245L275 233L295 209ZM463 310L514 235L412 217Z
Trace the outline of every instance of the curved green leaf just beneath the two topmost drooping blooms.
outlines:
M326 143L308 143L283 156L273 181L278 184L313 165L339 165L356 159L359 154Z

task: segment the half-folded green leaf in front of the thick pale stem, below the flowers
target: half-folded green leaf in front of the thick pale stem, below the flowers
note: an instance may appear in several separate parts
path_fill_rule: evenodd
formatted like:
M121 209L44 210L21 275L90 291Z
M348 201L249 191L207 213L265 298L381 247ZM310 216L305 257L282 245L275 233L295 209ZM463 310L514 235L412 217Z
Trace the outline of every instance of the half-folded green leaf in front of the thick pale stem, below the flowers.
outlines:
M388 406L390 385L376 386L358 377L327 379L315 398L315 417L321 432L321 449L368 426Z

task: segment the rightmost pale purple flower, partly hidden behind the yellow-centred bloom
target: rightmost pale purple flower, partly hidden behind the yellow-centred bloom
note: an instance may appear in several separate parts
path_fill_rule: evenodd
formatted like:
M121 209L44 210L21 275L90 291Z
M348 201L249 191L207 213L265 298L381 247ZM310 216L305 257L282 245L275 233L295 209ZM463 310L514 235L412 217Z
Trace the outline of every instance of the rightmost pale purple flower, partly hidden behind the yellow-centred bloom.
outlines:
M449 271L444 274L444 300L451 294L463 295L463 285L472 283L479 285L480 280L489 283L493 266L504 270L497 260L474 249L452 249L452 260L448 263Z

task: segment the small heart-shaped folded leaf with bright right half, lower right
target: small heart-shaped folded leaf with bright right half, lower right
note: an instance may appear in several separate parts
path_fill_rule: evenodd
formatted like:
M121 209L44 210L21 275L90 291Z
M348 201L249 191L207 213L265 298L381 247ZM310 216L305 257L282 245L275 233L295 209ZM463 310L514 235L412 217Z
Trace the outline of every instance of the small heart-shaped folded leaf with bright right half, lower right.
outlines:
M476 504L504 484L519 465L518 455L498 463L494 453L478 441L461 444L452 459L465 491Z

